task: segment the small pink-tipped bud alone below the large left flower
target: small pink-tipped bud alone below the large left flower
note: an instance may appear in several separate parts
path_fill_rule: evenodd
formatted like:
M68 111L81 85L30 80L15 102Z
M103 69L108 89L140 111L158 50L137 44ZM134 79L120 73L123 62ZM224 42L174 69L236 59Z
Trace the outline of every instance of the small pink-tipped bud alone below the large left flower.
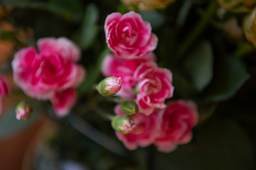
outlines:
M16 107L16 119L27 120L31 115L32 109L25 101L18 103Z

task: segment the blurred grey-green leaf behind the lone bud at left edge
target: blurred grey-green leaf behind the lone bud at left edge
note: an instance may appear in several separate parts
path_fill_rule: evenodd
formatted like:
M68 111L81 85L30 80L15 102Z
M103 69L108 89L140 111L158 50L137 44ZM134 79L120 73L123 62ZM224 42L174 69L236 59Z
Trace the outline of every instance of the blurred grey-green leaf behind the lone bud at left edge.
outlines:
M34 101L28 101L28 103L33 108L33 112L31 113L31 117L26 121L16 119L16 105L10 107L6 113L4 113L0 119L0 138L18 133L38 119L39 113L41 113L40 106Z

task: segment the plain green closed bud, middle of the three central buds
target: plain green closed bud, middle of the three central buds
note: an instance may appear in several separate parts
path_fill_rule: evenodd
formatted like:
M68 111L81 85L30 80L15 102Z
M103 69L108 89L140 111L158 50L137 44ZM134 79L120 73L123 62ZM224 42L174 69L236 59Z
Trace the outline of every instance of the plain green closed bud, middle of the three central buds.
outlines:
M120 103L120 108L122 113L124 113L124 115L127 115L129 117L136 115L139 111L137 103L133 100L122 101Z

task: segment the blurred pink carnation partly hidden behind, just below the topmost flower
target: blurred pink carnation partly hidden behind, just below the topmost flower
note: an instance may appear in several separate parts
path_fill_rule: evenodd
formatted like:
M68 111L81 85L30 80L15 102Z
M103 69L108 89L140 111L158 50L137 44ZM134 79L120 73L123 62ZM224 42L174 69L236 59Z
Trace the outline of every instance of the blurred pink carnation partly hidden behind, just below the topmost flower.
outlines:
M122 98L135 98L134 88L137 80L134 79L134 72L143 62L155 60L153 53L149 53L143 58L133 60L122 60L115 55L107 55L102 62L102 74L105 77L121 77L122 88L117 96Z

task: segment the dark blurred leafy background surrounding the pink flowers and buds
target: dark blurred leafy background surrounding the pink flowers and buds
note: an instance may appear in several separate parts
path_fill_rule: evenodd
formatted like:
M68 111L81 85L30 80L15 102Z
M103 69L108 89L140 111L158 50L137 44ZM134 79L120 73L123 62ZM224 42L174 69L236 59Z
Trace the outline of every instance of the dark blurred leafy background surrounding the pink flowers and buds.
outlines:
M0 115L1 170L250 170L256 153L256 51L254 1L176 0L144 11L119 0L1 0L0 72L11 86ZM106 54L104 22L112 12L136 10L159 38L160 67L174 76L174 98L198 104L193 140L169 154L153 146L130 152L110 122L87 111L97 98ZM250 20L247 18L250 16ZM12 80L11 60L44 37L67 37L82 50L87 77L73 114L57 118L50 103L28 98ZM18 121L26 99L31 118ZM100 103L113 112L114 103ZM95 139L97 138L97 139ZM101 141L100 143L97 141ZM114 146L111 149L107 146Z

